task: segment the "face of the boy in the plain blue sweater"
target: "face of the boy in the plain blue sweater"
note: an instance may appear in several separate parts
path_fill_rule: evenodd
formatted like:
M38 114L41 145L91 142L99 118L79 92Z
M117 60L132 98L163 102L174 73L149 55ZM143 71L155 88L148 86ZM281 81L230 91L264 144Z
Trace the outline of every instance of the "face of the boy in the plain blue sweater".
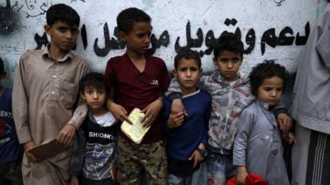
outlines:
M188 95L196 91L196 86L201 75L201 69L194 59L181 59L173 75L177 77L182 93Z

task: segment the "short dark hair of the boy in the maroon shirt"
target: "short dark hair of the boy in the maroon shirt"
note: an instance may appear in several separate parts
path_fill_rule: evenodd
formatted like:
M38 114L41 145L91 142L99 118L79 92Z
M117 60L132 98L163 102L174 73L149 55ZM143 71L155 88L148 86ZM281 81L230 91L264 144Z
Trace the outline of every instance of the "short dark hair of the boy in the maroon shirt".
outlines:
M118 30L129 34L132 31L135 22L151 22L151 17L143 10L137 8L127 8L122 10L117 16Z

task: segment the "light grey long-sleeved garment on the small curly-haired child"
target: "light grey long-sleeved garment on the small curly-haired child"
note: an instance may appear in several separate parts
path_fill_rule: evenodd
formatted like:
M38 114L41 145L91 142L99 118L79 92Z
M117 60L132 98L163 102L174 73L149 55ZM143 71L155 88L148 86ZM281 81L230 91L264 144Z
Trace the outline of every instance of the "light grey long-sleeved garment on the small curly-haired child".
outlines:
M267 103L255 101L239 116L233 164L245 166L248 173L260 175L270 185L289 185L281 132Z

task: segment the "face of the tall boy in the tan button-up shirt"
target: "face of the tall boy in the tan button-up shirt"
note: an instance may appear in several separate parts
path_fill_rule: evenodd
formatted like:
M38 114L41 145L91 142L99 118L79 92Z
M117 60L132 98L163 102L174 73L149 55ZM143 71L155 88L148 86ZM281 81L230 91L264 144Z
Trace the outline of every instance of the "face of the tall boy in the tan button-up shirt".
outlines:
M78 38L78 25L70 26L62 21L54 25L45 25L45 31L51 38L51 45L61 51L70 51Z

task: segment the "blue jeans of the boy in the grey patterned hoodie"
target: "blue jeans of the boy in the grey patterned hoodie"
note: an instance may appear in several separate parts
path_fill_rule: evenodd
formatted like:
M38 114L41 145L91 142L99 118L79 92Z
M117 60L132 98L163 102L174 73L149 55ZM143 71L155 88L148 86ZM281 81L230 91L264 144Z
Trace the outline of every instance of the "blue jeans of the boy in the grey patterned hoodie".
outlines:
M208 166L208 185L225 184L236 173L235 167L232 165L232 155L208 151L206 164Z

